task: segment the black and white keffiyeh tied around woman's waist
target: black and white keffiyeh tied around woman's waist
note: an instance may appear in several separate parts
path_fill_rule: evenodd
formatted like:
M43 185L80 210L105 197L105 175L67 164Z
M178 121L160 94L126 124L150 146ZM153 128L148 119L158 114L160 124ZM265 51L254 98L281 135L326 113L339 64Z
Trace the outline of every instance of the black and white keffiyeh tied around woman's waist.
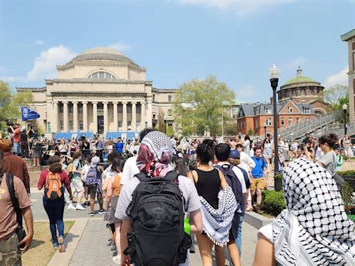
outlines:
M214 209L200 196L202 204L203 231L214 244L224 247L229 241L234 212L239 208L236 197L230 186L218 193L218 209Z

